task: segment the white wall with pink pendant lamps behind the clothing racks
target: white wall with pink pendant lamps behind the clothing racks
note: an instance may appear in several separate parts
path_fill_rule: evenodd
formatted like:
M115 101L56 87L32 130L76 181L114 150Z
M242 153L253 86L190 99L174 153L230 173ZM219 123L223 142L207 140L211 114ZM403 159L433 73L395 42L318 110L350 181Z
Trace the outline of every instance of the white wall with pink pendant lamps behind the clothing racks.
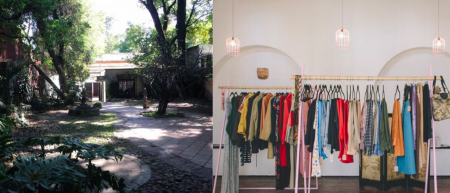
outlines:
M227 85L229 78L231 85L289 86L289 75L300 74L301 64L307 75L335 76L427 76L431 64L433 74L450 81L450 54L431 55L437 36L437 1L344 1L344 28L350 31L351 42L350 50L339 51L334 34L341 28L341 1L235 0L235 37L241 42L241 55L229 57L225 40L232 35L231 2L214 1L214 88ZM441 1L440 34L448 39L447 48L449 8L450 1ZM257 67L269 68L269 79L259 80ZM392 106L395 86L404 83L382 83L388 106ZM367 82L358 84L362 87ZM214 144L220 141L224 115L220 101L220 90L214 89ZM436 135L450 145L449 123L436 122ZM438 169L445 167L439 163L450 158L446 151L437 151L441 153ZM214 149L214 170L217 152ZM266 151L261 154L257 168L254 156L253 163L240 168L240 174L273 175L274 161L265 159ZM325 163L323 175L358 175L356 163ZM450 171L439 171L439 175L450 175Z

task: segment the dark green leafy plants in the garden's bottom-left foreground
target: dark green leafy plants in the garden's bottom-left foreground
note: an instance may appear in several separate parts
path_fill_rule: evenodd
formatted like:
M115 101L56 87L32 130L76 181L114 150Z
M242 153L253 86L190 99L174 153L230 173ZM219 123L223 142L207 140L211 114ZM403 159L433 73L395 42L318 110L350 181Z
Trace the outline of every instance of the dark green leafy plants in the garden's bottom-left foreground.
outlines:
M19 156L14 166L0 165L0 191L15 192L86 192L101 191L109 187L119 192L129 192L124 179L92 163L94 159L114 159L119 162L123 155L109 146L83 143L72 138L29 138L25 145L60 145L57 150L63 155L45 159L44 156ZM45 150L42 149L45 155ZM72 154L76 153L72 159ZM68 157L66 156L68 154ZM84 168L79 159L87 161Z

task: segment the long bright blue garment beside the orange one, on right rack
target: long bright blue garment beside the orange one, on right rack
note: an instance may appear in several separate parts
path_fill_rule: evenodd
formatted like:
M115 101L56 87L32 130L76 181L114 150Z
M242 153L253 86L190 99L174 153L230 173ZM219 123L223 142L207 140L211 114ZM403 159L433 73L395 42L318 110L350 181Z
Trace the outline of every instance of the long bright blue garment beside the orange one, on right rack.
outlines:
M402 172L404 174L416 174L410 110L411 107L409 106L409 100L406 100L403 103L402 112L405 152L403 156L397 156L398 172Z

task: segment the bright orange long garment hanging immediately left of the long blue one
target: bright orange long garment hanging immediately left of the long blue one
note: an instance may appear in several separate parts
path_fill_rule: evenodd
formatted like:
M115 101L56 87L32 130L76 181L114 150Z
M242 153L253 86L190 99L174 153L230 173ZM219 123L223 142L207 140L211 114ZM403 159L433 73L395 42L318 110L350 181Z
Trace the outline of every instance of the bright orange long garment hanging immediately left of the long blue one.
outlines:
M401 116L400 101L396 99L394 102L394 109L392 110L392 145L394 146L395 156L405 155Z

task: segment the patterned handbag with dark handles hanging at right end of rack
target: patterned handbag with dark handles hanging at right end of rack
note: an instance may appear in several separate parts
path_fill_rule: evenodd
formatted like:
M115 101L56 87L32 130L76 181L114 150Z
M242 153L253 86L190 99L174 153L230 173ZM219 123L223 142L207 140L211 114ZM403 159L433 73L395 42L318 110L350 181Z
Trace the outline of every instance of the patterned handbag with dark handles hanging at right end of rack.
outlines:
M433 88L435 89L436 76L433 80ZM433 117L435 121L441 121L450 118L450 93L447 85L445 84L444 78L441 76L441 86L444 90L443 93L434 93L433 100ZM436 89L435 89L436 90Z

